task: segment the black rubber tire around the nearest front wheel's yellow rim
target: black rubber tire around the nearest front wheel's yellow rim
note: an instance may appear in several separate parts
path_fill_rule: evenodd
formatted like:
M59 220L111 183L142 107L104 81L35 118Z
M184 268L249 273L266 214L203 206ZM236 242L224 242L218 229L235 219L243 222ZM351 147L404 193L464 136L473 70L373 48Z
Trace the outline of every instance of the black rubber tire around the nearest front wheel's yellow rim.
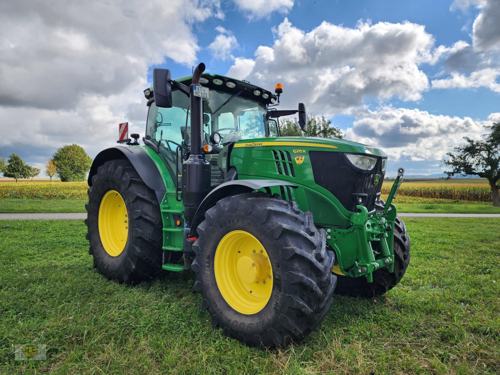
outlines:
M253 314L229 306L215 280L217 245L233 230L254 235L272 265L269 301ZM307 336L328 311L336 284L331 272L335 255L326 249L325 231L295 201L257 193L229 196L206 211L197 233L191 265L197 276L194 289L201 292L201 309L208 309L212 327L219 326L226 336L250 346L283 347Z

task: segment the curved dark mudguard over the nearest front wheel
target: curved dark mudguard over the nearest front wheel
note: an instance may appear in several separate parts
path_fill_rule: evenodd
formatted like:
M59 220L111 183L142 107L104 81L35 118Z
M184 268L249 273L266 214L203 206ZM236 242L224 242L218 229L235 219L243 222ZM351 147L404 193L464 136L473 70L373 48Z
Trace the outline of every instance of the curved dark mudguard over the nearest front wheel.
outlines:
M229 195L241 194L245 192L252 192L253 190L260 190L261 188L268 188L270 186L290 186L292 188L297 188L290 182L280 181L277 179L267 180L267 179L236 179L233 181L227 181L221 183L213 190L211 190L207 196L201 201L194 218L191 222L191 236L196 235L197 226L205 219L205 212L208 208L213 207L217 201L225 198ZM269 190L270 192L270 190Z

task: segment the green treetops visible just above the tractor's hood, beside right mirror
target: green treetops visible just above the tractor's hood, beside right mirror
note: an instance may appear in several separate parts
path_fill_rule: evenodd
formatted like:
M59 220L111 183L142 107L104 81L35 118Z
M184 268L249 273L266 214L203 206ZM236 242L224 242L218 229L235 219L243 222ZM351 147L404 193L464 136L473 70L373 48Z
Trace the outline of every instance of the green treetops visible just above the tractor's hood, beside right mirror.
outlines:
M322 138L343 138L344 134L338 126L331 126L331 120L316 117L313 114L307 116L307 131L303 132L298 124L297 117L293 119L285 118L280 121L279 133L281 136L319 136Z

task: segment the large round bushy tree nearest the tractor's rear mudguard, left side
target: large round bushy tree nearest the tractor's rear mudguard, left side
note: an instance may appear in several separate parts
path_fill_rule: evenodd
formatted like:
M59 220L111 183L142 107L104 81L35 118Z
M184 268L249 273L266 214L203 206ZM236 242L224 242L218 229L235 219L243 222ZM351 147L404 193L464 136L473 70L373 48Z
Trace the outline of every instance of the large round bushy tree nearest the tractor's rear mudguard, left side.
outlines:
M63 145L52 155L57 174L61 181L83 181L92 165L92 159L83 147L77 144Z

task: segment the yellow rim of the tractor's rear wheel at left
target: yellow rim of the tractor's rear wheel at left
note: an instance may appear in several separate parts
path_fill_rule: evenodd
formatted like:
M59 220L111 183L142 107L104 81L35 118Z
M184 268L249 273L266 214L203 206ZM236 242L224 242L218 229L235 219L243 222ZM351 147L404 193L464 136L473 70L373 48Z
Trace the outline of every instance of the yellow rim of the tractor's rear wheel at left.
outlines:
M98 225L104 250L111 256L121 254L128 235L128 217L125 202L118 191L109 190L102 197Z

